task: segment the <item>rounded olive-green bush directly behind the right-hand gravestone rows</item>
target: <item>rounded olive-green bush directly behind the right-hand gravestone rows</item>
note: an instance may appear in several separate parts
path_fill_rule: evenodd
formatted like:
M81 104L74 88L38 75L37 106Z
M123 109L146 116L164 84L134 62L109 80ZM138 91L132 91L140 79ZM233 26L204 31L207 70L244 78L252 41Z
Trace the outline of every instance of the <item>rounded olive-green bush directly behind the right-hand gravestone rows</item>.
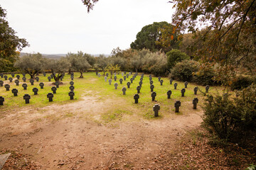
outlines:
M193 74L198 72L198 62L193 60L183 60L178 62L173 69L171 69L170 77L180 81L191 81Z

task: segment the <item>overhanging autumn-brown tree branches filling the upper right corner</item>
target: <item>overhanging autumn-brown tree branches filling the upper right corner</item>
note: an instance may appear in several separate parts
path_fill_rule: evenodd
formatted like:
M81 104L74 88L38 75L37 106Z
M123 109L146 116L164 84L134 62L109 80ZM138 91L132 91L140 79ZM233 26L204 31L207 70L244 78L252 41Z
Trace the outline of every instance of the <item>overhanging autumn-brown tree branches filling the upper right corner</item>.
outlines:
M176 7L173 17L176 29L183 33L188 30L202 43L195 55L204 62L217 62L219 79L228 84L240 64L251 71L255 70L255 0L172 2Z

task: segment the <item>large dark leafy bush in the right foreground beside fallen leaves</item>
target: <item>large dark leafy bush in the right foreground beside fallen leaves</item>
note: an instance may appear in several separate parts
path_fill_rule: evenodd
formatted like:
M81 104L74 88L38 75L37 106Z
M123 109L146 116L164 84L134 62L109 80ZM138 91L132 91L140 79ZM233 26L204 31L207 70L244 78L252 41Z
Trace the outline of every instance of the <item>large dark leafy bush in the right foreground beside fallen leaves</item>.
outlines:
M228 95L207 96L204 106L203 126L221 140L246 146L255 141L256 86L238 92L238 97Z

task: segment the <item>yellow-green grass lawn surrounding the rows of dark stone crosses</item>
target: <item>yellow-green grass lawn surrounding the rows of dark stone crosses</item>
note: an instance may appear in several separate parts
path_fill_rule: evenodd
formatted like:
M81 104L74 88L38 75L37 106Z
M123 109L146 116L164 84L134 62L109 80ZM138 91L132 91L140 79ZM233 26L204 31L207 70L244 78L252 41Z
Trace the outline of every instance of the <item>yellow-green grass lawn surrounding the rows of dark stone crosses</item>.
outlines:
M105 122L111 122L113 120L122 120L123 115L129 115L129 113L136 113L142 118L146 119L161 119L164 117L169 117L171 115L185 115L190 112L197 112L197 110L193 110L193 98L197 97L199 99L198 105L203 104L203 94L198 91L197 95L193 94L193 89L196 84L188 83L188 88L186 88L186 93L184 97L181 97L181 89L184 88L184 82L180 81L173 81L172 84L169 83L169 79L163 77L164 80L163 86L160 85L157 77L152 77L154 81L154 91L156 92L156 101L151 101L151 90L149 88L149 75L144 74L144 80L142 84L141 93L139 94L139 103L134 103L134 94L137 94L137 86L139 86L139 79L141 78L141 74L137 76L137 78L133 81L130 88L127 88L127 82L130 81L129 77L122 84L119 83L119 79L123 79L122 74L117 74L117 81L114 81L114 75L112 75L112 84L110 85L108 79L110 79L111 75L109 73L109 77L107 81L105 81L103 72L100 72L101 77L97 77L95 72L84 73L83 79L78 78L80 73L75 72L74 75L74 86L75 86L75 96L74 100L70 100L68 96L68 92L70 91L70 75L66 74L63 79L63 84L60 85L60 88L57 90L57 94L54 94L53 102L49 102L47 98L48 93L52 93L51 87L54 86L52 83L53 81L48 81L47 77L50 74L46 74L46 77L43 77L43 74L39 76L39 81L34 82L34 85L31 86L29 82L29 76L26 75L26 84L28 84L28 89L23 90L21 86L23 84L22 75L20 78L20 85L16 86L14 81L10 83L9 81L4 81L4 78L0 78L0 80L4 81L4 84L10 84L11 88L10 91L6 91L4 87L0 87L0 96L5 98L4 106L0 106L0 111L8 111L9 109L14 108L22 108L22 107L34 107L34 108L41 108L44 106L49 106L52 104L59 104L63 105L70 102L76 102L82 99L83 96L97 96L97 99L100 101L108 100L108 98L112 98L112 100L119 100L122 98L124 101L122 105L115 105L112 106L112 111L106 111L106 113L102 113L102 120ZM134 75L134 74L133 74ZM11 75L8 75L11 77ZM16 77L14 78L14 80ZM45 84L44 89L40 89L39 83L43 82ZM117 89L114 89L114 83L118 83ZM174 89L174 83L177 83L177 89ZM126 87L127 91L126 94L122 94L122 87ZM34 95L32 89L34 87L38 88L38 95ZM198 86L201 91L205 91L204 86ZM14 96L11 93L11 89L18 89L18 96ZM221 91L221 87L212 87L210 86L209 94L216 94L218 91ZM171 98L167 98L167 91L171 90ZM90 91L90 93L88 92ZM29 104L25 104L23 100L23 95L29 94L31 96L31 100ZM180 113L174 113L174 103L175 101L181 101ZM159 104L161 109L159 111L159 118L154 118L153 106L155 104ZM128 112L128 113L127 113ZM64 116L65 118L73 117L74 115L71 113L66 113Z

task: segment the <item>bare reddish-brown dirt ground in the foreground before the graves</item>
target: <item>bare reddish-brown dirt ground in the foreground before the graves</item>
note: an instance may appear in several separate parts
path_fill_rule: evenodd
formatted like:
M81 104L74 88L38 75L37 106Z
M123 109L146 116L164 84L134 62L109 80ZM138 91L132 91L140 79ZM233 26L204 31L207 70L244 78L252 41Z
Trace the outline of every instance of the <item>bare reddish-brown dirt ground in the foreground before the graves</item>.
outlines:
M26 154L40 169L170 169L164 159L175 158L161 155L174 152L177 141L198 128L201 108L156 120L132 114L100 121L99 115L122 102L89 95L66 105L8 111L0 118L0 149Z

